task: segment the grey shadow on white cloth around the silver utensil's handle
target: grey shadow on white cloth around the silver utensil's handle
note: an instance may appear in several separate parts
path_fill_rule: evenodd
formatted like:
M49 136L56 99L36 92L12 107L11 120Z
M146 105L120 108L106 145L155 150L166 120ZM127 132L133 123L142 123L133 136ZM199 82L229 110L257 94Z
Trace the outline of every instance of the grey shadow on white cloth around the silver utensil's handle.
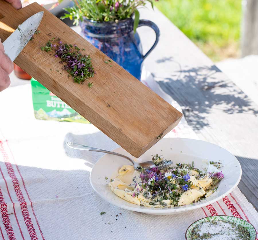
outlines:
M85 165L92 167L101 156L105 153L102 152L93 152L93 151L84 151L76 150L67 146L67 142L79 143L82 145L100 148L104 150L112 151L119 147L119 145L114 142L111 138L105 135L103 132L95 132L91 134L77 135L71 132L67 133L63 146L67 156L71 158L80 158L85 160ZM89 161L87 159L90 159Z

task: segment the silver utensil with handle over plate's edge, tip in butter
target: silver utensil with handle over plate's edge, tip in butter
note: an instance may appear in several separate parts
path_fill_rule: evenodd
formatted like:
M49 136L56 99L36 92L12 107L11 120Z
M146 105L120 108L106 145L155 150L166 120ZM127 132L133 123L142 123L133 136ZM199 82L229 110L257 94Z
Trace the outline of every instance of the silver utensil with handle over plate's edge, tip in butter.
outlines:
M74 148L74 149L78 149L78 150L93 151L93 152L105 152L105 153L109 153L109 154L113 154L113 155L117 155L117 156L126 158L127 160L129 160L133 164L134 169L137 170L137 171L141 171L141 168L148 169L148 168L156 167L156 165L153 163L153 161L146 161L146 162L137 163L137 162L134 162L128 156L125 156L125 155L117 153L117 152L110 152L110 151L107 151L107 150L103 150L103 149L99 149L99 148L93 148L93 147L89 147L89 146L84 146L84 145L81 145L81 144L78 144L78 143L73 143L73 142L67 142L67 145L70 148ZM157 167L159 169L163 169L165 167L168 167L171 163L172 162L170 160L169 161L166 160L163 163L159 164Z

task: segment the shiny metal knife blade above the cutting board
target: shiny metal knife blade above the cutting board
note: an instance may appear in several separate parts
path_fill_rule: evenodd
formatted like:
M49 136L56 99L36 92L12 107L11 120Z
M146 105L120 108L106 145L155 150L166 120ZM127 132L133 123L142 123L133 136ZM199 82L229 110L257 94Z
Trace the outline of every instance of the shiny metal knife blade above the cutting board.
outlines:
M44 12L42 11L29 17L3 42L5 54L12 61L14 61L22 49L24 49L35 31L38 29L43 14Z

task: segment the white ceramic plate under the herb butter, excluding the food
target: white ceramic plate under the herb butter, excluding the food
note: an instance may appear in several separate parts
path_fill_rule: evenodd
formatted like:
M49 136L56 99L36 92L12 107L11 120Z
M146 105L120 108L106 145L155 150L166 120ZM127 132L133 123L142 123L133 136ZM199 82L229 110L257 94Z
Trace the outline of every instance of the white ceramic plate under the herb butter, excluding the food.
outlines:
M114 152L132 157L123 148L117 148ZM214 166L210 165L209 161L219 161L222 163L219 171L223 172L224 178L217 185L218 190L215 193L197 203L163 209L142 207L121 199L111 191L107 185L110 179L114 179L118 175L118 170L122 165L130 164L130 162L125 158L106 154L96 162L91 170L91 186L99 197L115 206L148 214L170 215L204 207L222 199L238 185L241 179L241 166L235 156L224 148L209 142L188 138L162 138L140 158L143 161L150 160L152 155L155 154L163 155L164 158L172 160L174 164L179 162L192 164L193 161L195 167L200 169L208 168L211 171L218 170L214 169Z

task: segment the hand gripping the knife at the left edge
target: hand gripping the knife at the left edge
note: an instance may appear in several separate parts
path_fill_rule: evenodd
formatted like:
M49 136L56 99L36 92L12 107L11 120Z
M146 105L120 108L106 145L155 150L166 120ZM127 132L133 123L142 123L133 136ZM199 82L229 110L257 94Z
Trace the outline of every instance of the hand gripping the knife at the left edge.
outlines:
M7 55L0 39L0 92L10 85L9 74L13 71L13 62Z

